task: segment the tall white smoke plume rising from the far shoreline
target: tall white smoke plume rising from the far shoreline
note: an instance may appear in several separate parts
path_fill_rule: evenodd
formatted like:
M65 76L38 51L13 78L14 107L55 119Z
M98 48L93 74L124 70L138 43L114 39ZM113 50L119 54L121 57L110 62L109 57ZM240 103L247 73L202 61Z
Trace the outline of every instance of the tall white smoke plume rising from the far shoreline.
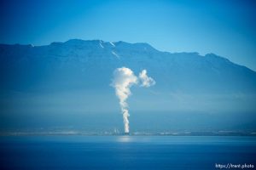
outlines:
M139 80L138 80L139 79ZM123 113L123 119L125 124L125 133L129 133L129 111L126 99L131 95L131 86L141 83L142 87L150 87L155 84L154 79L147 76L147 71L143 70L137 78L131 69L122 67L113 71L112 86L115 88L115 94L119 98L119 105Z

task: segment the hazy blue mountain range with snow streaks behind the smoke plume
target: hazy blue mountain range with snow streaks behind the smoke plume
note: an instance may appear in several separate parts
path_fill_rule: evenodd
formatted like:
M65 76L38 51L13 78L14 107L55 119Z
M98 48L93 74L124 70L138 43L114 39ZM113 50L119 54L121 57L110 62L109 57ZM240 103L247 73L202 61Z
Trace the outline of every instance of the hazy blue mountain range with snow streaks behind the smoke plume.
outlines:
M156 82L150 88L131 88L128 104L132 117L141 113L137 117L142 121L145 112L165 112L175 115L172 121L181 121L178 116L187 120L196 115L198 119L187 120L194 126L197 121L211 122L212 115L218 119L230 116L230 128L255 128L256 72L246 66L216 54L162 52L143 42L79 39L44 46L0 44L2 127L31 125L32 117L38 119L35 114L51 126L55 123L50 120L60 122L64 117L67 122L72 114L120 116L119 101L110 84L113 71L122 66L135 74L146 69ZM205 116L201 114L208 117L201 120ZM154 123L154 118L149 122Z

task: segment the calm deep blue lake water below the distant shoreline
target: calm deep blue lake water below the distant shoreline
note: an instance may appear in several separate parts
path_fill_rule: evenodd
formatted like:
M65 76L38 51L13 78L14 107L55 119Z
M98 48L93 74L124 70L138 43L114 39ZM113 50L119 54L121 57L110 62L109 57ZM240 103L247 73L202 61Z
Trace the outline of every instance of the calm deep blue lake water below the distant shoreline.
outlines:
M0 137L0 169L220 169L254 165L255 137ZM224 168L222 168L224 169ZM233 167L230 169L241 169Z

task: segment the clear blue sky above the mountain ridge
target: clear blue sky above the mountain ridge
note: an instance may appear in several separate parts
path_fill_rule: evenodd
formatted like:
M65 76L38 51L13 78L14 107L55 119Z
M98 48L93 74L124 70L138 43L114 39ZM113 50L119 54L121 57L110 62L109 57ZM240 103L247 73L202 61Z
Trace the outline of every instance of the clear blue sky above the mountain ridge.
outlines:
M0 43L148 42L163 51L218 54L256 71L255 8L248 0L3 0Z

